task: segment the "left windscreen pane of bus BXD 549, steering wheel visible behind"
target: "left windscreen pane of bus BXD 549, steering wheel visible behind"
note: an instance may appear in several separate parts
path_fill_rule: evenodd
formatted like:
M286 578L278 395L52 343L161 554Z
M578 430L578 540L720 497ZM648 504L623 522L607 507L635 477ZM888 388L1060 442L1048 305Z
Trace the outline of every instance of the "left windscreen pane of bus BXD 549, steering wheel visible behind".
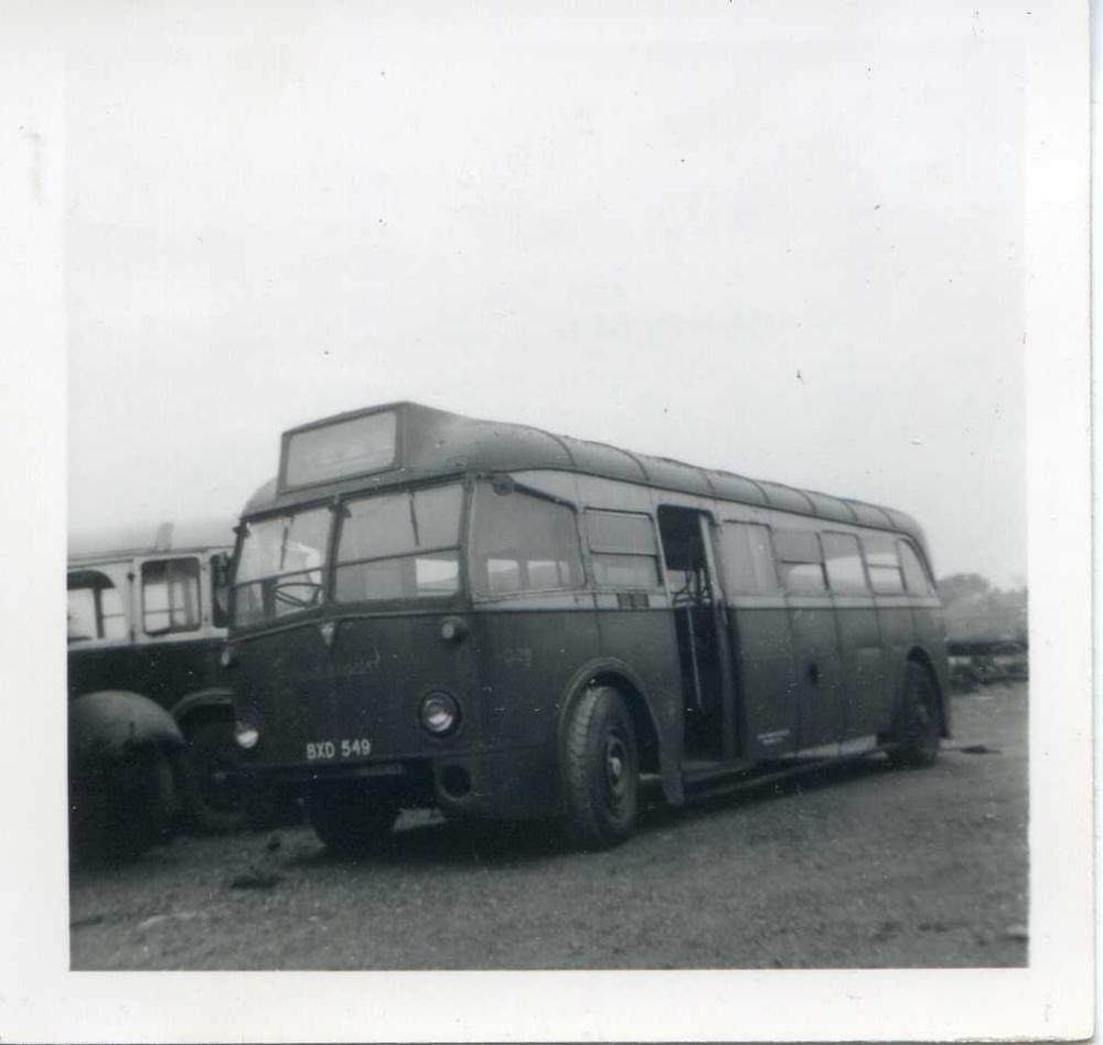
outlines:
M236 623L299 612L321 599L331 518L328 508L312 508L243 524L233 587Z

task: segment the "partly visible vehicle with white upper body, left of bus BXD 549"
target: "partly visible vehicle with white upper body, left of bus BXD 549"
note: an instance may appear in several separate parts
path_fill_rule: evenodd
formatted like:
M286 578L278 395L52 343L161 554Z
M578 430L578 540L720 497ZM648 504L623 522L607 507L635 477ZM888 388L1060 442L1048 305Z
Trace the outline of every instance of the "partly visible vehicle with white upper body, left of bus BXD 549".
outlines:
M181 808L242 824L244 749L222 683L231 524L164 523L69 550L69 796L78 851L140 852Z

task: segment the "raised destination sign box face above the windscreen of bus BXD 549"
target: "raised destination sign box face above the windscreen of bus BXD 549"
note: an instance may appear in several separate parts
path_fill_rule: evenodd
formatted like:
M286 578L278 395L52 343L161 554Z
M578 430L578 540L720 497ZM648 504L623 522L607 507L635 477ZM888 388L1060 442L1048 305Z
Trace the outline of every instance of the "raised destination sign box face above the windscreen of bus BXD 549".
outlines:
M288 436L283 487L306 487L382 471L395 463L398 417L394 410L353 417Z

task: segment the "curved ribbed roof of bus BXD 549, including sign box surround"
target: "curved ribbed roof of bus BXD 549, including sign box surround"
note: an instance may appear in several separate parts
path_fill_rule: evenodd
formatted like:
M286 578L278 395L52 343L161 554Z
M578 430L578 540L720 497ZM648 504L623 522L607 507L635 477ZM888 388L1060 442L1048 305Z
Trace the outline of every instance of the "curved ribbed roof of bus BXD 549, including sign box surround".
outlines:
M245 514L278 510L330 493L398 486L460 472L553 469L899 531L914 537L927 551L923 532L915 520L895 509L635 454L603 442L553 435L528 425L476 420L410 402L339 414L285 431L280 476L285 474L283 462L291 437L387 410L397 416L397 454L389 468L298 488L281 484L277 477L254 493L245 505Z

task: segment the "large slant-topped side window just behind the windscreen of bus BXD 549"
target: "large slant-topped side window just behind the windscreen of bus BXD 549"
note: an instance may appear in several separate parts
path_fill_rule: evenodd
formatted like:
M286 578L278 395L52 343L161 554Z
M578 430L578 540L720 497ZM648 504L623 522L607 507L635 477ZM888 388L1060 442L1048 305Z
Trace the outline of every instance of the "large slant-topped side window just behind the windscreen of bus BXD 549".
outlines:
M475 488L471 571L476 595L577 588L582 583L575 513L527 493Z

